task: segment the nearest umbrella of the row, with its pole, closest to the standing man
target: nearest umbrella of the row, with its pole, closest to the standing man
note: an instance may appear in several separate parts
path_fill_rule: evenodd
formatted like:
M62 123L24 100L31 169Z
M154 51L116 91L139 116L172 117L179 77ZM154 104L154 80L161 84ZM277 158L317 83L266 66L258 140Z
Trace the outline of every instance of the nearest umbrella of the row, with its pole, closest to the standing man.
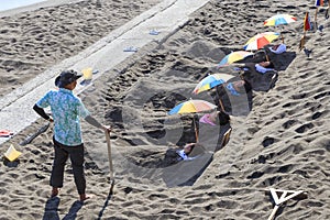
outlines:
M205 101L200 99L190 99L188 101L184 101L177 106L175 106L168 114L183 114L183 113L197 113L197 112L204 112L204 111L210 111L216 109L217 106ZM195 123L195 118L194 120L194 127L195 127L195 136L196 136L196 142L198 141L198 134L197 134L197 129L196 129L196 123Z

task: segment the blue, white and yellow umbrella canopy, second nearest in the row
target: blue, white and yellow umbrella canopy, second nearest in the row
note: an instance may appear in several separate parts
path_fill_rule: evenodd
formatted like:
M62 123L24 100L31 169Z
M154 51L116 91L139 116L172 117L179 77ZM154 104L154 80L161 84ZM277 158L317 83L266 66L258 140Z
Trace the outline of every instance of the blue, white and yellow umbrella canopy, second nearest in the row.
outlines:
M234 76L229 74L212 74L208 75L201 81L197 84L193 94L199 94L201 91L209 90L216 86L227 82L229 79L233 78Z

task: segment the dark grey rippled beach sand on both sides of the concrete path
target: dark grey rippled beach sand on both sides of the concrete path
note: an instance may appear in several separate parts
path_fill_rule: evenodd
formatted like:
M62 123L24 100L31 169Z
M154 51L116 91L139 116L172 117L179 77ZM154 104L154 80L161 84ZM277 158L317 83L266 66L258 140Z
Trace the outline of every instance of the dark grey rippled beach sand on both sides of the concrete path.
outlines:
M100 8L82 1L1 18L0 97L161 1L101 2ZM68 163L59 196L50 199L52 125L20 145L47 124L38 119L0 145L1 155L10 144L23 153L14 163L1 161L0 219L267 219L275 206L270 188L307 195L280 206L276 220L330 219L330 20L323 8L318 12L322 33L306 33L310 56L298 50L305 13L314 21L315 11L314 2L298 0L272 6L209 1L173 35L139 50L116 67L114 77L105 73L79 95L96 118L113 128L113 194L105 134L82 122L87 191L95 198L77 201ZM264 26L276 13L293 14L297 22ZM217 64L256 33L278 30L287 45L286 54L271 57L277 61L278 79L271 89L252 90L252 109L248 96L231 100L229 143L215 152L221 127L199 124L199 142L209 153L198 163L164 165L168 148L196 141L193 116L167 112L189 98L212 102L207 92L191 95L195 86L211 73L238 77Z

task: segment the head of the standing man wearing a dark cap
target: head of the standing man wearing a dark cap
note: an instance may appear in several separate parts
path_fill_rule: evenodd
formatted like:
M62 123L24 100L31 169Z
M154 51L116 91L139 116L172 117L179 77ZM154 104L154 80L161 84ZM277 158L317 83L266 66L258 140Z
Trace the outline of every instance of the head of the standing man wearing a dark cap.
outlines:
M65 88L68 90L74 90L77 86L77 79L80 78L82 75L79 75L77 72L64 70L59 74L59 76L55 79L55 86L58 88Z

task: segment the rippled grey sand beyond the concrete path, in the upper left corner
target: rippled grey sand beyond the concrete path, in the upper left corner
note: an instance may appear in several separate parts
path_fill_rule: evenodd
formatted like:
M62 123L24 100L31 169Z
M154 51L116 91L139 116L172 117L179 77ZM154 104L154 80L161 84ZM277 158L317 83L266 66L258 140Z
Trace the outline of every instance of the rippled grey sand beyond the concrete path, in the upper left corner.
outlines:
M1 18L1 96L86 50L157 2L103 1L98 7L81 1Z

